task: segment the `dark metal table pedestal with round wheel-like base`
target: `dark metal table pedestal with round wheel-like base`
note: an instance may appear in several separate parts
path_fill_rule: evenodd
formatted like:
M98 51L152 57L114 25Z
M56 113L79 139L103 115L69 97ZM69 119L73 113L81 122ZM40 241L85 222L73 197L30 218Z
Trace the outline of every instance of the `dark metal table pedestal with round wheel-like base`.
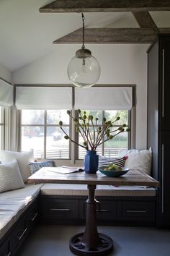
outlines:
M96 185L88 185L89 197L86 201L86 228L84 233L76 234L70 239L70 250L75 255L106 256L113 249L112 239L97 231L96 208L99 202L95 200Z

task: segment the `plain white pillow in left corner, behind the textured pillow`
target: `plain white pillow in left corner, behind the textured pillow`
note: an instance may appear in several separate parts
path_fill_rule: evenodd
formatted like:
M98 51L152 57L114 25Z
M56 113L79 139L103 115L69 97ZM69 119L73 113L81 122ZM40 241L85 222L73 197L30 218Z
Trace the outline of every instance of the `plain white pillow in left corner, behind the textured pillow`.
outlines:
M1 150L0 159L2 163L8 163L16 159L19 165L19 170L22 175L22 179L24 182L27 182L27 178L31 175L29 163L34 161L33 150L24 152Z

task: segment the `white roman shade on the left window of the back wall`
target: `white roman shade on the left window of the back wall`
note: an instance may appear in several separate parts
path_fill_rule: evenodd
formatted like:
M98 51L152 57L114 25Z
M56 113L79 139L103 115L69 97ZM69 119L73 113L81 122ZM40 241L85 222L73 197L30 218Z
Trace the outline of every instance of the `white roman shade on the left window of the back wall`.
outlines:
M71 109L72 88L16 87L18 109Z

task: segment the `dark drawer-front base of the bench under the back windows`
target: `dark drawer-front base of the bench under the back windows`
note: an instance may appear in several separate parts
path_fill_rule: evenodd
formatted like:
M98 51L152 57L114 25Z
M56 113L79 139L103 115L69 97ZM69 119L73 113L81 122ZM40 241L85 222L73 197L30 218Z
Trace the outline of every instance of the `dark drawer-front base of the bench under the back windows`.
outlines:
M156 197L97 197L97 223L106 225L127 224L154 226L156 223ZM62 225L84 224L86 197L40 196L42 223Z

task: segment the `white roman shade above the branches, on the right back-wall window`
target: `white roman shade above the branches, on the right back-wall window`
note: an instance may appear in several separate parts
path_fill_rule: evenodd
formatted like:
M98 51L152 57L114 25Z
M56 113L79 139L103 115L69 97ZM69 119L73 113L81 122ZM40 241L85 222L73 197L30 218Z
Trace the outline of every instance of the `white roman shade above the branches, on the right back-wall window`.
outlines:
M75 88L75 109L130 110L132 106L132 87Z

